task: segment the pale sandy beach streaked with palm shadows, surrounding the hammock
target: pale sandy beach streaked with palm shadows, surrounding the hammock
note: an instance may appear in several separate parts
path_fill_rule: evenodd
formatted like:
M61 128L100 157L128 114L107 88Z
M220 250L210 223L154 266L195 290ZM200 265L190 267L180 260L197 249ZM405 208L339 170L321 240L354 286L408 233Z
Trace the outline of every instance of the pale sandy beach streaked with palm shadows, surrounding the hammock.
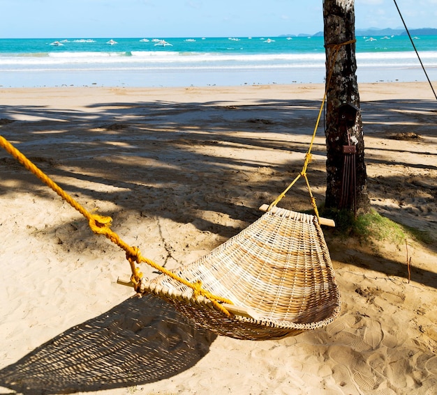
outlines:
M0 134L175 268L255 221L302 169L323 86L0 93ZM116 283L124 252L1 150L1 394L437 394L436 100L423 83L362 84L360 96L373 208L434 239L361 245L325 231L341 314L276 341L215 336L132 297ZM313 154L320 204L323 120ZM280 206L311 208L304 184Z

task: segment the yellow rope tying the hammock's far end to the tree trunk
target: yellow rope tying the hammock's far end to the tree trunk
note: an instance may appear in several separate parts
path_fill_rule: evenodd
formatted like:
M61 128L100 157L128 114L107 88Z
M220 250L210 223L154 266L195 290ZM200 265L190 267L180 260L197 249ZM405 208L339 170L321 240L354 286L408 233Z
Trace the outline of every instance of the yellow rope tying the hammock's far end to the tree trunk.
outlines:
M316 126L314 127L314 130L313 130L313 136L311 137L311 142L309 144L308 151L306 152L306 155L305 155L304 166L302 166L302 171L297 175L297 177L294 180L292 180L290 185L288 185L288 187L286 187L286 189L284 189L284 191L281 192L281 194L279 194L279 196L270 204L267 211L269 211L273 207L275 207L279 203L279 201L281 201L281 199L284 196L286 196L286 193L290 190L290 188L293 185L295 185L295 183L297 182L297 180L299 180L299 178L304 177L305 182L306 182L306 187L308 189L309 196L311 199L311 206L313 206L313 210L316 213L316 217L319 219L316 199L314 198L313 192L311 191L311 187L309 185L309 180L308 180L308 177L306 176L306 169L308 168L308 165L311 163L311 160L312 160L311 150L313 149L314 140L316 139L316 132L318 129L318 125L320 123L320 118L322 117L322 114L323 114L323 106L325 105L327 91L329 88L329 84L331 82L332 72L334 71L334 62L336 61L336 56L339 53L339 50L343 45L353 44L353 42L356 42L356 40L348 40L346 42L341 42L341 44L327 45L328 48L332 48L332 49L334 49L334 51L331 52L329 59L327 61L327 67L328 67L329 72L328 72L327 82L326 82L326 86L325 86L325 93L323 94L322 104L320 105L320 110L318 111L318 117L317 117L317 121L316 121Z

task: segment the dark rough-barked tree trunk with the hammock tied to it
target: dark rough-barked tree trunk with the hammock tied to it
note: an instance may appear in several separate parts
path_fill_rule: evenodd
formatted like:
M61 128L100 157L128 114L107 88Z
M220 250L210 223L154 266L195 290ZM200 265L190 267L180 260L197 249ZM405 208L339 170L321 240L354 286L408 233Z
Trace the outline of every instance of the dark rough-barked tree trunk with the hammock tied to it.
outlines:
M327 61L325 206L345 208L361 214L369 212L370 202L360 95L355 75L354 0L324 0L323 20ZM341 45L345 42L350 43ZM353 114L354 108L357 110L356 116Z

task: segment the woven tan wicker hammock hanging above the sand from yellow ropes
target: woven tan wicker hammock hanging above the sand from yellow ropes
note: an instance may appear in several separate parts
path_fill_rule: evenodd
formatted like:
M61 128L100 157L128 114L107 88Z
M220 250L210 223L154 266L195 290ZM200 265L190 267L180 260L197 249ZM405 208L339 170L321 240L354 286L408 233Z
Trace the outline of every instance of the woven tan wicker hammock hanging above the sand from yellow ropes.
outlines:
M231 300L226 317L206 297L161 274L140 293L170 302L193 323L236 339L281 339L331 323L340 311L331 258L316 216L282 208L266 212L178 276ZM229 305L228 305L229 306Z

